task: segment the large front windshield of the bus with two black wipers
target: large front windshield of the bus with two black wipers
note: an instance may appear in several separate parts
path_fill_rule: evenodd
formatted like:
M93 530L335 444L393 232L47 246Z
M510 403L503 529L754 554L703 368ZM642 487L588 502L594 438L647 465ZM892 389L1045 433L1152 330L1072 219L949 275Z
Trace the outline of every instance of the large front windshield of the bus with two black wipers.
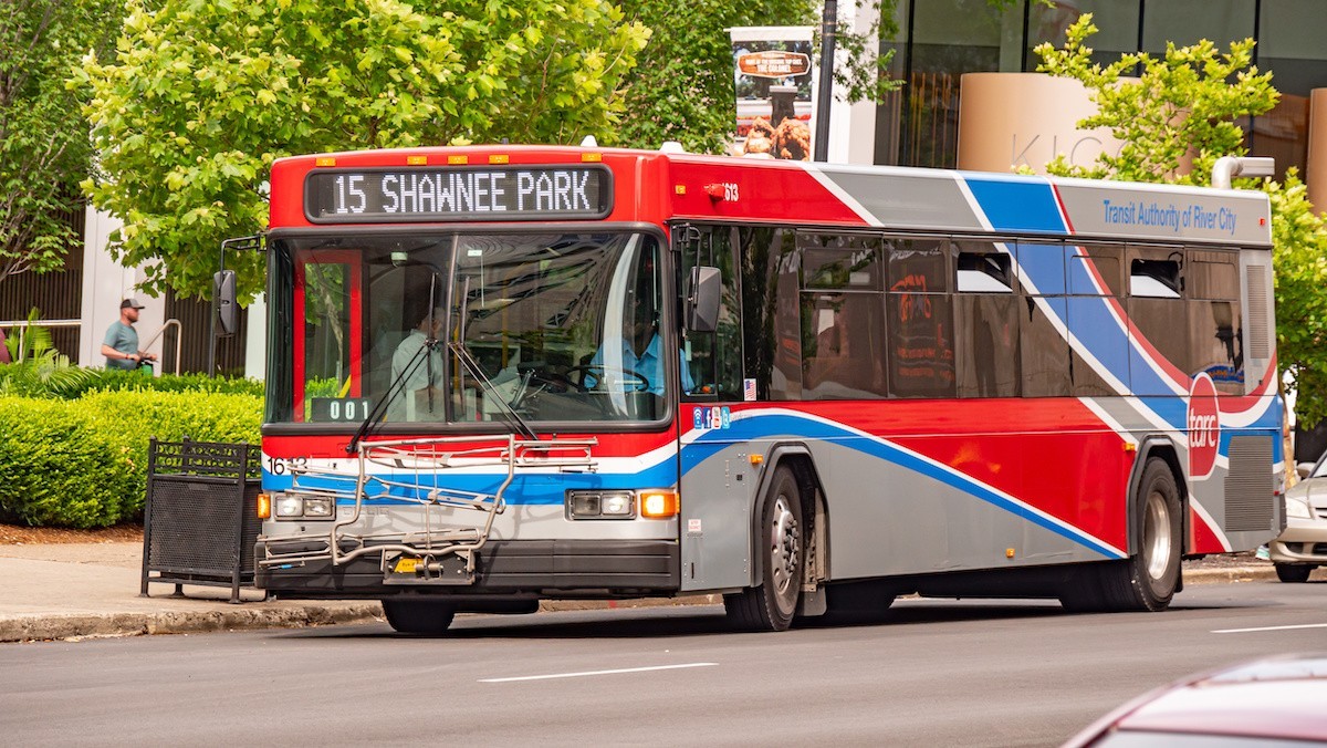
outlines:
M287 239L291 408L272 420L654 421L658 242L634 233ZM454 345L464 349L459 355Z

